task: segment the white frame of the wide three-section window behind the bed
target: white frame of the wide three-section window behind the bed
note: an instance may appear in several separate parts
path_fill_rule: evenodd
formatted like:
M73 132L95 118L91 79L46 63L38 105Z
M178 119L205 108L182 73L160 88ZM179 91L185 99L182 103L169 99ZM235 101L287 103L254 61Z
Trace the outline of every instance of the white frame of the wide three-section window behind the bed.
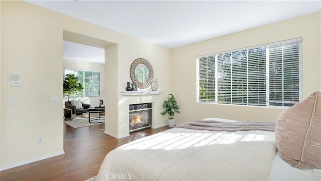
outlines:
M205 54L205 55L200 55L197 56L196 58L196 102L197 103L210 103L210 104L222 104L222 105L236 105L236 106L254 106L254 107L269 107L269 108L287 108L288 106L285 106L284 100L282 103L282 106L277 106L277 105L270 105L270 87L269 87L269 81L270 81L270 76L269 76L269 69L270 69L270 52L269 48L272 46L276 45L284 45L284 44L289 44L289 43L298 43L298 102L302 101L302 38L296 38L296 39L290 39L290 40L285 40L285 41L279 41L279 42L273 42L273 43L267 43L267 44L262 44L262 45L257 45L257 46L251 46L251 47L246 47L246 48L240 48L240 49L235 49L235 50L229 50L229 51L222 51L218 53L211 53L211 54ZM218 102L218 55L221 54L226 54L226 53L233 53L233 52L238 52L238 51L249 51L251 49L255 48L265 48L265 99L266 99L266 104L265 105L246 105L246 104L237 104L232 101L232 96L231 96L231 103L220 103ZM282 52L282 57L283 57L283 52ZM211 56L215 56L215 100L211 101L209 99L204 99L200 100L200 59L201 58L208 58ZM247 58L248 58L247 54ZM249 61L247 60L247 64ZM283 64L283 63L282 63ZM208 64L207 64L208 65ZM208 66L206 67L208 68ZM207 72L205 74L208 74ZM231 73L232 74L232 73ZM282 72L283 76L284 72ZM247 72L247 76L249 76ZM208 78L206 78L208 80ZM231 84L232 85L232 84ZM282 82L282 86L284 86L284 83ZM208 90L208 89L206 89ZM247 89L248 91L248 89ZM232 92L232 91L231 91ZM282 91L282 94L284 94L284 91ZM232 95L232 93L231 93ZM249 98L249 94L246 94L247 99ZM296 102L296 101L295 101ZM293 102L294 103L294 102Z

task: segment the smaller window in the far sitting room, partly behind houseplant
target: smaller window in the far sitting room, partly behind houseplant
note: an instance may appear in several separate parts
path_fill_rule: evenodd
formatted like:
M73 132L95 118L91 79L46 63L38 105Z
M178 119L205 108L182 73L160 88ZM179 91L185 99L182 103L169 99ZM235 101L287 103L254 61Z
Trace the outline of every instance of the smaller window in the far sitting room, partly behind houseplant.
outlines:
M84 87L83 90L71 94L70 97L100 97L100 72L90 72L83 70L65 69L66 74L75 74Z

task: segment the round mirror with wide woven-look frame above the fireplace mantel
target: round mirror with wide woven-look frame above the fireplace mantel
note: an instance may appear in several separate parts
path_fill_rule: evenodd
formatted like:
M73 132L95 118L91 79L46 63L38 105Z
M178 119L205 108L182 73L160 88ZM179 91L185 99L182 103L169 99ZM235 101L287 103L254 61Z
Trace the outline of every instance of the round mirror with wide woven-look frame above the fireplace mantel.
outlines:
M138 88L143 89L150 86L153 77L154 72L146 59L138 58L131 64L130 78Z

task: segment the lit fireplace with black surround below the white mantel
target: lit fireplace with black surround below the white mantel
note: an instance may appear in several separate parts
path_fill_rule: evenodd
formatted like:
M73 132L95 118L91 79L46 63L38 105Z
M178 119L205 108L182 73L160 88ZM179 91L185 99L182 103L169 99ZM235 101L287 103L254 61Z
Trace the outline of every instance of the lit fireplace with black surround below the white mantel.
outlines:
M129 105L129 132L151 127L151 103Z

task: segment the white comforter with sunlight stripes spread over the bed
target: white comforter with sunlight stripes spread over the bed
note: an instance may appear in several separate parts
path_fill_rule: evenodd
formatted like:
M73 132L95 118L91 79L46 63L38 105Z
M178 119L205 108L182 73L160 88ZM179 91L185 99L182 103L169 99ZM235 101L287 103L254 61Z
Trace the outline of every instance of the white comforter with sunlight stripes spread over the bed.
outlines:
M274 132L173 128L110 151L96 180L266 180Z

